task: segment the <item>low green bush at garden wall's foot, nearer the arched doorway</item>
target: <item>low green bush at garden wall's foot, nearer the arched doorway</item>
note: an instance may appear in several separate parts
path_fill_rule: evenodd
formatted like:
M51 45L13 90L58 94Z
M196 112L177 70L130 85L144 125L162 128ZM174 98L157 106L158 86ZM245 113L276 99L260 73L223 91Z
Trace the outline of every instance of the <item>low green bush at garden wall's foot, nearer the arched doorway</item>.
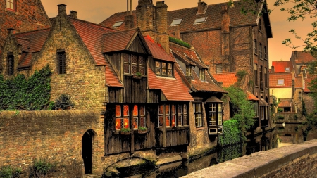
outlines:
M56 172L56 163L49 163L47 160L34 160L30 167L30 177L46 177L51 172Z

